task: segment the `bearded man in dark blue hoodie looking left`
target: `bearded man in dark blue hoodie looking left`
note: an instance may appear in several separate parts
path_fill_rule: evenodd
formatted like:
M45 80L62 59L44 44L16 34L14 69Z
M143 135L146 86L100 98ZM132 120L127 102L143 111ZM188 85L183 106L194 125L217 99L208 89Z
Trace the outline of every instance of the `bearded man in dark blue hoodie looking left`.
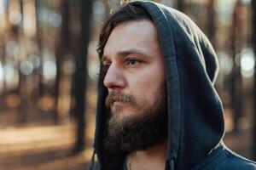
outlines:
M88 169L256 169L222 142L217 56L186 15L159 3L128 3L103 26L98 53Z

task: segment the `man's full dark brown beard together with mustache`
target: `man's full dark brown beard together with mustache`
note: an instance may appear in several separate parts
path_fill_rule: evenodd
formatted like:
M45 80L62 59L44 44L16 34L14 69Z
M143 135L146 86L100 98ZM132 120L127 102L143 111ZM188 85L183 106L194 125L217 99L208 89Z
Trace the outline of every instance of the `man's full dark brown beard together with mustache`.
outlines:
M139 107L134 97L127 94L109 94L106 105L111 107L113 100L119 100L137 107L136 116L108 120L108 134L104 139L104 148L112 152L147 150L154 145L164 142L167 138L168 111L166 107L166 94L157 96L154 105L145 109ZM112 113L113 115L113 113ZM135 114L133 114L135 115Z

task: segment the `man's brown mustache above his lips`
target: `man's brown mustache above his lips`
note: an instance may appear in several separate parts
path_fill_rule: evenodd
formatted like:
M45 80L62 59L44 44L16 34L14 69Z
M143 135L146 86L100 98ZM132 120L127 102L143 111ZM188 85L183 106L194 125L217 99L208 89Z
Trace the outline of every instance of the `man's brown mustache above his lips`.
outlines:
M105 105L110 108L113 105L113 102L115 101L120 101L132 106L137 106L136 99L132 95L120 94L118 92L110 92L106 99Z

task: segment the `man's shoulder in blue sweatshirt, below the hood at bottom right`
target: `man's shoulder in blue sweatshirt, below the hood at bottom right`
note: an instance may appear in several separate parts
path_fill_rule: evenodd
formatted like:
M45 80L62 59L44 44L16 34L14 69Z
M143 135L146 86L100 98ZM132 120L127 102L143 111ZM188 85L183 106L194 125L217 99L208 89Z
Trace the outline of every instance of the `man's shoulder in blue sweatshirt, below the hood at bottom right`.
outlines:
M242 156L237 155L231 150L224 150L227 153L226 159L216 168L218 170L256 170L256 163Z

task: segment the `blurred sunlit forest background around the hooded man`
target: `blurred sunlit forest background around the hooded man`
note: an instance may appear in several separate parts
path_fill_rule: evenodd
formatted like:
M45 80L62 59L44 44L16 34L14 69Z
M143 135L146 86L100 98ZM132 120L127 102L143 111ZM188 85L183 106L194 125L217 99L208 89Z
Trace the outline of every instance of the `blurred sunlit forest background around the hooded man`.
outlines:
M225 143L256 161L256 0L155 0L204 31L219 59ZM84 169L97 40L120 0L0 0L0 169Z

